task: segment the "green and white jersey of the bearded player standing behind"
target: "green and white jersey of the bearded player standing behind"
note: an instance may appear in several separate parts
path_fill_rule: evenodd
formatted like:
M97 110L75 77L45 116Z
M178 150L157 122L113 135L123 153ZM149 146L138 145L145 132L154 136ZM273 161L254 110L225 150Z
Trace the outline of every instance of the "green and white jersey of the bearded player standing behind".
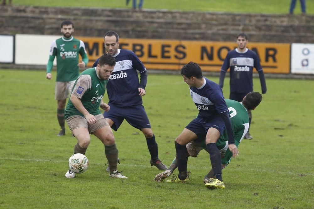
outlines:
M81 54L85 64L88 62L84 42L71 36L61 37L54 40L50 47L50 58L52 61L57 56L57 78L56 81L68 82L78 78L78 58ZM86 60L87 59L87 60ZM52 65L48 63L47 73L50 73Z

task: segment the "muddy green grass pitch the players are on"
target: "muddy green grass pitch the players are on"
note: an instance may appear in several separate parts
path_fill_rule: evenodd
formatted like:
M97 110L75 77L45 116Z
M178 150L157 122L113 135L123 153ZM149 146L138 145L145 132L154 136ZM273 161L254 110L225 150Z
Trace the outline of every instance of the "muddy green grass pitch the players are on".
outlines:
M268 92L253 111L254 139L243 140L240 156L223 170L226 189L211 191L202 182L210 168L204 151L189 159L189 182L153 181L159 171L150 167L146 141L126 122L114 134L119 170L127 180L106 173L104 147L95 136L86 152L89 169L65 178L76 139L68 127L66 136L56 136L55 82L46 80L44 71L2 69L0 208L314 208L314 83L266 81ZM254 84L260 91L258 79ZM160 159L169 165L175 137L197 110L181 75L150 74L146 92L144 106Z

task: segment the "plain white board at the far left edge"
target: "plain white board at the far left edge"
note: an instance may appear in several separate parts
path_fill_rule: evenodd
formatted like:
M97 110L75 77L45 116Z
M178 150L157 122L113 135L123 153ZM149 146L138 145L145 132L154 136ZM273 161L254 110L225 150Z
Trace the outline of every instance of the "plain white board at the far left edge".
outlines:
M14 36L0 35L0 63L13 63Z

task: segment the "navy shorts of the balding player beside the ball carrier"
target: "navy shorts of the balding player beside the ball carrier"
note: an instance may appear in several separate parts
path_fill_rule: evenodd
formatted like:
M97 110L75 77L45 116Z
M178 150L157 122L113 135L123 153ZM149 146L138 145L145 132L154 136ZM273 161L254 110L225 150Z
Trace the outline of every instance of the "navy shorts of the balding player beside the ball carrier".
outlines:
M109 118L114 122L111 126L113 130L117 131L124 119L134 128L151 128L143 105L118 107L110 102L108 105L110 106L110 110L104 112L104 117Z

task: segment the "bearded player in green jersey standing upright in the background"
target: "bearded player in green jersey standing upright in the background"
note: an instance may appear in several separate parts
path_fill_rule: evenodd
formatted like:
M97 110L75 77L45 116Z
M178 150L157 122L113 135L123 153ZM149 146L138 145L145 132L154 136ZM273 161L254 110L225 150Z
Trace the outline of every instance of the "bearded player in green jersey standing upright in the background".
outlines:
M51 43L49 60L47 63L46 78L51 79L53 60L57 56L57 78L55 88L55 99L58 103L57 118L61 130L57 136L65 135L64 127L64 107L66 100L73 88L73 84L79 75L79 68L85 68L88 57L84 42L72 36L74 24L69 21L61 23L61 33L63 36ZM79 54L83 61L78 62Z

